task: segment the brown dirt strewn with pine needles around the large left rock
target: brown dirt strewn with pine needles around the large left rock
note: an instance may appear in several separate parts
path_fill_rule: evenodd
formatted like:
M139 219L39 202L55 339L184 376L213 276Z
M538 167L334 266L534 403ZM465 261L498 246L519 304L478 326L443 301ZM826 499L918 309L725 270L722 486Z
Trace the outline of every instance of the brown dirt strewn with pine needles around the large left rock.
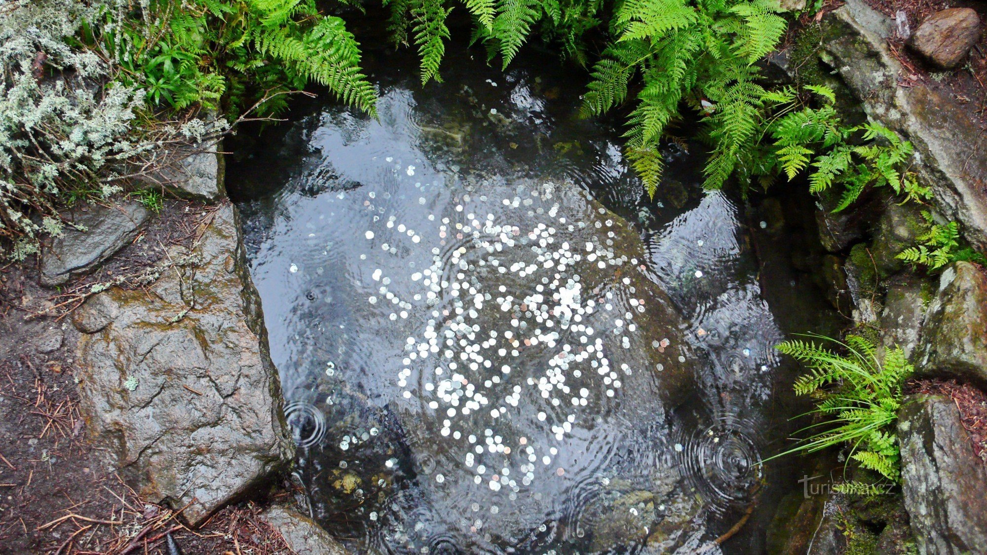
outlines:
M79 334L68 311L94 283L143 286L165 247L189 246L209 213L201 204L166 202L133 244L61 290L38 285L36 260L0 268L0 554L164 554L166 532L186 555L290 553L254 505L224 509L189 529L181 511L141 500L87 442L79 414Z

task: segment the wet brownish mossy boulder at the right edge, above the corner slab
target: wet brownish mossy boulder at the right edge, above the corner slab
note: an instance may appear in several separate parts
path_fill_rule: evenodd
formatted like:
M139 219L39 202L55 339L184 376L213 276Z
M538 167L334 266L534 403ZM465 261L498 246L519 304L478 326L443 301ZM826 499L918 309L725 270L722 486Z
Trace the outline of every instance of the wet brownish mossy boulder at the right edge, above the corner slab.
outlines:
M987 276L957 262L943 272L918 348L920 373L987 384Z

